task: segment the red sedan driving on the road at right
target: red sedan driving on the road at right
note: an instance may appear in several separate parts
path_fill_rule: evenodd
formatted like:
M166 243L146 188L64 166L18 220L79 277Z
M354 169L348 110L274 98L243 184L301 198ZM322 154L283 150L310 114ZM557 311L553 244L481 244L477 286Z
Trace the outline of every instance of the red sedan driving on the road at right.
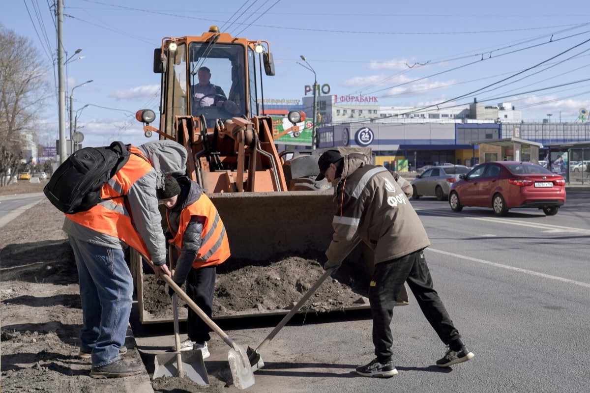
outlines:
M514 207L533 207L553 216L565 204L565 180L538 164L483 163L451 184L448 203L454 212L464 206L491 207L504 216Z

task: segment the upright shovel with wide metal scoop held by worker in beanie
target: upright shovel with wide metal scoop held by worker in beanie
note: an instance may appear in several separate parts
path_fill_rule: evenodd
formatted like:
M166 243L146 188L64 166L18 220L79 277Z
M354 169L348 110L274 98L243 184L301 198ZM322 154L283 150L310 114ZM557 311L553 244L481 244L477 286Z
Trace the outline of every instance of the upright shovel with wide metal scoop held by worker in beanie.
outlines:
M170 270L173 272L172 250L170 250ZM199 386L209 386L207 369L201 351L181 351L181 339L178 333L178 300L176 292L172 295L172 311L174 313L175 352L156 355L155 371L152 379L159 377L188 377Z

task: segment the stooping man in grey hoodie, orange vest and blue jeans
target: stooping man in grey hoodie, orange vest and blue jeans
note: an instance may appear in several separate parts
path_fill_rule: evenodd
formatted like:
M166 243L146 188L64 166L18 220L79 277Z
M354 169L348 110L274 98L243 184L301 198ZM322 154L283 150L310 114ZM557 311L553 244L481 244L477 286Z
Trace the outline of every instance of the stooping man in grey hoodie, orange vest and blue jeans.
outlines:
M100 188L93 202L97 204L66 213L63 225L80 280L83 326L79 356L91 357L93 378L127 377L143 370L141 364L125 362L120 356L126 352L133 302L133 278L124 249L131 246L149 256L156 278L170 275L156 189L166 175L186 171L188 153L176 142L152 141L139 147L128 145L127 150L131 154Z

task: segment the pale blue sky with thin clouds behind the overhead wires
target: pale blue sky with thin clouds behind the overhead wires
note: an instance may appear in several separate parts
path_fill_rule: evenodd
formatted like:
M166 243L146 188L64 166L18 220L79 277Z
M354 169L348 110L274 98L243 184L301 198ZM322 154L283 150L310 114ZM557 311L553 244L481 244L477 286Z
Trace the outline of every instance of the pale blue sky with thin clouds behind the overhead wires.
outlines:
M58 137L53 0L4 2L0 23L28 37L51 72L55 98L40 114L45 140ZM590 108L590 11L582 1L65 0L64 49L84 146L147 141L133 114L157 111L153 49L163 37L200 35L209 25L270 43L276 76L265 98L301 100L313 74L332 94L380 105L509 102L525 120L576 121ZM76 49L79 54L74 55ZM448 101L448 102L447 102ZM67 114L68 117L68 114ZM69 130L69 128L67 128ZM69 131L67 131L68 134Z

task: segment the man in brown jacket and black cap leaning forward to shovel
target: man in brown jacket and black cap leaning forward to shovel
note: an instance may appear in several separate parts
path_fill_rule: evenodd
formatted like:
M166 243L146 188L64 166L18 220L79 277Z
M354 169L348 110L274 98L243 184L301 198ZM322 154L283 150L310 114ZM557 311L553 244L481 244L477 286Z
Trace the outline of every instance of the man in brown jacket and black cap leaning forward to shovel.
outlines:
M437 366L447 367L473 358L432 288L424 257L430 240L409 203L412 187L408 181L396 172L369 164L368 158L360 153L342 157L337 150L327 150L320 156L318 166L320 173L316 180L325 177L333 184L337 202L332 222L335 232L326 251L324 269L337 269L360 240L374 254L369 303L376 358L357 367L357 374L381 378L398 374L391 350L390 323L404 282L408 283L432 328L448 346Z

